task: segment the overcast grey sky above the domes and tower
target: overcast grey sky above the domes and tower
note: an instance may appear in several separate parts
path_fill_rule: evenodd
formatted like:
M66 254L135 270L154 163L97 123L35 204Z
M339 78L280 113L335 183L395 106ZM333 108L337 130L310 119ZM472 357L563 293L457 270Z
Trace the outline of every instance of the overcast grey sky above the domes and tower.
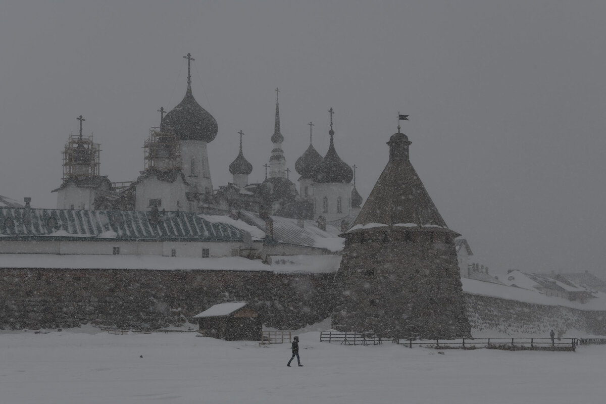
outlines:
M193 93L219 124L215 187L239 130L251 182L264 178L276 87L287 165L309 121L325 153L333 107L364 199L401 111L419 176L488 266L605 276L605 20L603 0L2 1L0 194L56 206L79 114L101 174L136 179L191 52Z

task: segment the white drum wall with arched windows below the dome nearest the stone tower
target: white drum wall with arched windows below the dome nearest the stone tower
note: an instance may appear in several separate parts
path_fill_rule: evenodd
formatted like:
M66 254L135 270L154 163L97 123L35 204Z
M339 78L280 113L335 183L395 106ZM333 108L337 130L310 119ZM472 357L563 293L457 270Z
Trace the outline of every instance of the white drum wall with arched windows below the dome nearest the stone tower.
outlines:
M342 219L351 211L351 184L330 183L313 184L314 219L324 216L328 222ZM324 209L324 197L327 209ZM338 198L341 198L341 211L338 209Z

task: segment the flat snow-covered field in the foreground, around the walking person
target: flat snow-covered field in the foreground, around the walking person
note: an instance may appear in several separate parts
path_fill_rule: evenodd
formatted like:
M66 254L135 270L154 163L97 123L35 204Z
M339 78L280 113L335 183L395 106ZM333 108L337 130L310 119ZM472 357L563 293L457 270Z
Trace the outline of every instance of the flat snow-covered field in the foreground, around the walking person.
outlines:
M259 346L195 333L0 331L0 403L604 403L606 346L576 353ZM142 357L141 357L142 356Z

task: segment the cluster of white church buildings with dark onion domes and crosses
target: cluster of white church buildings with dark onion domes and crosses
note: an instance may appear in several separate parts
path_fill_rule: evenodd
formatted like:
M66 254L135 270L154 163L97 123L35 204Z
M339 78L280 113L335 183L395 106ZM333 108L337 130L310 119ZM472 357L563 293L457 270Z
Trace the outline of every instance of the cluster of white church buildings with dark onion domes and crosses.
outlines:
M150 129L145 141L145 168L139 177L116 183L99 175L99 144L93 142L92 135L82 135L81 116L79 136L70 136L65 145L63 182L54 190L58 194L57 208L210 214L248 210L348 227L362 200L351 184L351 167L335 150L332 108L330 147L322 157L311 144L310 133L310 146L295 163L300 176L298 187L290 180L282 148L285 137L276 88L275 131L268 142L271 151L265 180L260 184L248 182L253 166L244 156L241 131L238 156L229 166L233 182L213 188L208 144L217 136L219 126L193 96L191 62L195 59L190 54L184 58L188 61L185 96L166 114L163 108L159 110L161 124Z

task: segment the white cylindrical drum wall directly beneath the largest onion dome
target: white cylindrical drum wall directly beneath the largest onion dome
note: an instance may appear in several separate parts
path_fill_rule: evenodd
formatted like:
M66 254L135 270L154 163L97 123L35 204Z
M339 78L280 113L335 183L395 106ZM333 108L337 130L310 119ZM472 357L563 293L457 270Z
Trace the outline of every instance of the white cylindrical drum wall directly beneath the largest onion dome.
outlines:
M207 143L202 141L181 141L183 173L190 185L199 193L210 193L213 183L210 179Z

